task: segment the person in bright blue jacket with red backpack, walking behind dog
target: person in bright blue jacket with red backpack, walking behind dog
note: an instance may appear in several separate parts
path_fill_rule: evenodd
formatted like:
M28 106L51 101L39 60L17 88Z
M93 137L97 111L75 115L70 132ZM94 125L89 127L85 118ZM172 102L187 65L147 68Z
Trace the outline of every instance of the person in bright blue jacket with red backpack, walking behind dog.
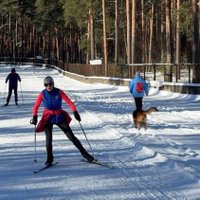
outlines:
M136 110L142 110L142 99L145 93L148 95L149 90L147 83L140 76L139 71L135 73L135 77L131 80L129 89L135 100Z

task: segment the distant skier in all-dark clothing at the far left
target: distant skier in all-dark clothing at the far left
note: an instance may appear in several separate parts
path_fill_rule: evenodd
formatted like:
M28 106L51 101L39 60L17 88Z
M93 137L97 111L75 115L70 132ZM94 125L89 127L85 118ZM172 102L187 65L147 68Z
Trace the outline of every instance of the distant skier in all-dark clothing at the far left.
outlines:
M18 97L17 97L17 87L18 87L18 81L21 82L21 78L18 73L16 73L15 68L11 69L11 73L8 74L5 83L9 81L9 86L8 86L8 97L6 100L5 106L8 106L10 97L12 95L12 90L14 90L15 94L15 104L18 105Z

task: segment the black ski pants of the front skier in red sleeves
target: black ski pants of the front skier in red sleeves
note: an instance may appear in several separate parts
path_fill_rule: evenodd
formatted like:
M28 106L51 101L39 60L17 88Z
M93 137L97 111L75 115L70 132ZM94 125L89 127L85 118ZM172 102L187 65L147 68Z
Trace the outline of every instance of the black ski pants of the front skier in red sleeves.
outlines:
M57 126L65 133L65 135L71 140L71 142L77 147L77 149L80 151L80 153L84 156L85 154L88 154L87 151L84 149L80 141L75 137L74 133L72 132L70 126L63 122L61 124L57 124ZM46 151L47 151L47 158L53 158L53 148L52 148L52 130L53 130L53 124L48 122L45 126L45 135L46 135Z

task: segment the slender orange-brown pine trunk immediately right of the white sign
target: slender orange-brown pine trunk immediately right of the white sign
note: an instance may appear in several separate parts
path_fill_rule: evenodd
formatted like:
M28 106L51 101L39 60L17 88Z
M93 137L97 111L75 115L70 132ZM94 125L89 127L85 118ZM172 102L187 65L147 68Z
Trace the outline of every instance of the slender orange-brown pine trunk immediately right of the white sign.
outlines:
M106 4L105 0L102 0L104 67L105 67L105 76L107 76L108 75L108 57L107 57L106 5L105 4Z

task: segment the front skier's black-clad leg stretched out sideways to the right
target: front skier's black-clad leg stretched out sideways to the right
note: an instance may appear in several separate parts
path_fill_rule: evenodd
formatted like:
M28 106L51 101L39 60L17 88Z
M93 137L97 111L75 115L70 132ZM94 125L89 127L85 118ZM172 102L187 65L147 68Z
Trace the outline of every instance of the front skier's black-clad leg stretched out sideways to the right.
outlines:
M83 147L81 142L78 140L77 137L75 137L74 133L72 132L70 126L66 124L65 122L58 124L60 129L65 133L65 135L69 138L69 140L72 141L72 143L77 147L77 149L80 151L82 156L86 158L88 161L92 162L94 160L93 156L91 156Z

